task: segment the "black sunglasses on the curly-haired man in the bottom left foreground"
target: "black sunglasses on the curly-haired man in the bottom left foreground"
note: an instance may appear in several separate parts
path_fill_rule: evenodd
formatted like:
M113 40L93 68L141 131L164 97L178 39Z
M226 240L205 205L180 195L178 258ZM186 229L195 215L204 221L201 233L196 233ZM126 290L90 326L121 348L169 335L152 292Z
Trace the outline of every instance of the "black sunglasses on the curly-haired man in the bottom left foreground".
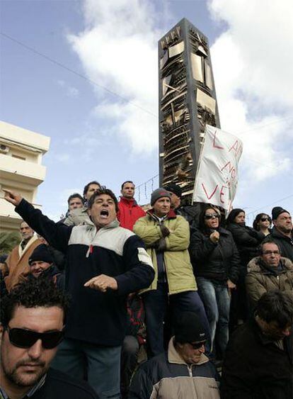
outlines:
M6 327L8 337L15 347L28 349L33 347L38 339L42 339L42 347L45 349L53 349L62 341L64 337L64 330L52 332L36 332L24 330L23 328Z

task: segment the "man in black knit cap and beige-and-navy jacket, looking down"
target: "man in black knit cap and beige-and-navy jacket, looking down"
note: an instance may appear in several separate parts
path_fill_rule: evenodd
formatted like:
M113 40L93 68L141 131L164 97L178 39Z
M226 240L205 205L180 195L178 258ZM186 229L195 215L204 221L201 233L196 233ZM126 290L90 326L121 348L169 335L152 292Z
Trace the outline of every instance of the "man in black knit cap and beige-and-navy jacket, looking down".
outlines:
M168 351L142 364L128 399L219 398L219 378L205 356L207 335L196 313L183 312L174 325Z

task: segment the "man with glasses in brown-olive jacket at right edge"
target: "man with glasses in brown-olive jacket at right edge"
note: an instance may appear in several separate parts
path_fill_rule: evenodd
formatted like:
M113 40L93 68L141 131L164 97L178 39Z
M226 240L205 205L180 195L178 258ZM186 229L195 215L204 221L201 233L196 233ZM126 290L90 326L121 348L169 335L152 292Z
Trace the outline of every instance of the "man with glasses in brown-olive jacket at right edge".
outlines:
M251 308L265 292L293 290L293 263L281 257L280 247L271 237L260 244L260 257L251 259L247 269L246 288Z

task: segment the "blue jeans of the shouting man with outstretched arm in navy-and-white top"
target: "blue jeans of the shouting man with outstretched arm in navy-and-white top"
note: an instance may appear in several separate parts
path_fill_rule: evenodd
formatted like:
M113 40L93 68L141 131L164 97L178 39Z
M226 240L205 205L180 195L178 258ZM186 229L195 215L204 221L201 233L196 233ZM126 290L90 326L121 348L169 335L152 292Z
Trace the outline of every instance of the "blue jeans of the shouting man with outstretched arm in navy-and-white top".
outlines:
M119 399L120 354L121 347L99 347L66 338L59 344L51 366L79 380L87 374L100 399Z

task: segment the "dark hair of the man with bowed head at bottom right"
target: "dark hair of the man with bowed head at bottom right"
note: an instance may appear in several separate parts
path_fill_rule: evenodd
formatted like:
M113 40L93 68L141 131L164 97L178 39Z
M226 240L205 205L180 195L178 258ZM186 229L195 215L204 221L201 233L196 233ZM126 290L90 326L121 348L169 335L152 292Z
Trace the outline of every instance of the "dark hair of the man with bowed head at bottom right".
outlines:
M255 314L265 322L277 322L283 328L293 322L293 294L273 290L264 293L255 307Z

